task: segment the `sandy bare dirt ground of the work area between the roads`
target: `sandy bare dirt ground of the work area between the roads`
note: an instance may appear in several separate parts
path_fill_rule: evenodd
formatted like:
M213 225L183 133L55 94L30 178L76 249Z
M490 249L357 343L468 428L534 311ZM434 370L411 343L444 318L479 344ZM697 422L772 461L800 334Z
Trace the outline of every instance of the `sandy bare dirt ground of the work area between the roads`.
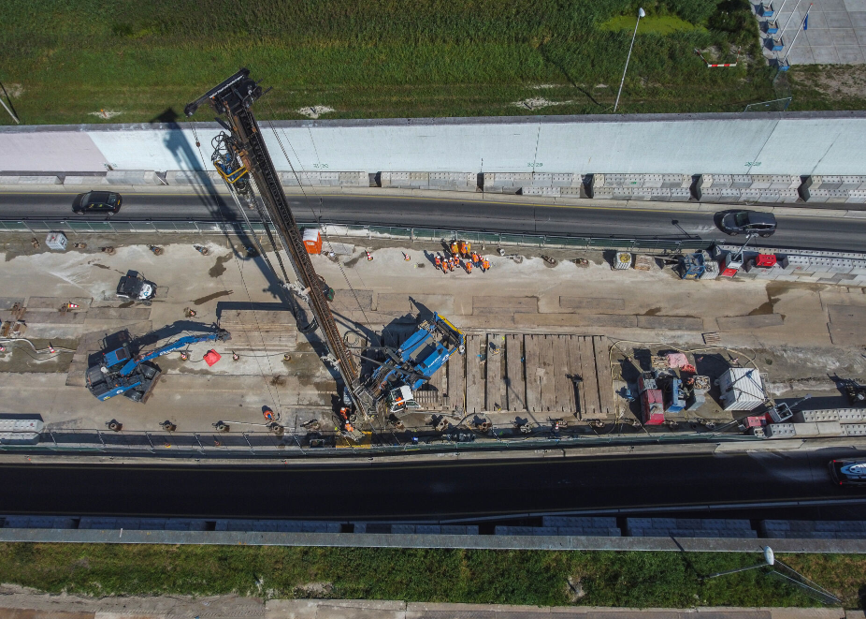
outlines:
M846 405L836 379L866 378L862 343L834 342L828 331L828 308L866 306L860 288L757 280L690 282L664 266L661 253L651 271L614 271L606 252L504 247L503 256L492 246L476 248L490 258L489 273L443 275L433 265L433 256L443 249L441 242L407 247L406 242L387 239L331 241L325 251L333 250L334 255L314 256L313 263L336 290L332 308L348 341L385 337L388 343L398 342L414 329L421 310L438 311L467 334L481 337L601 336L615 345L611 369L618 412L608 422L628 423L637 417L636 404L626 398L628 392L635 393L636 351L690 352L697 365L714 368L713 378L729 365L754 366L769 395L793 402L810 394L808 408ZM158 430L161 422L171 420L183 431L212 431L215 422L224 420L249 432L266 432L263 406L282 415L287 427L298 428L314 418L326 427L333 424L333 372L319 359L321 342L296 334L294 326L291 344L269 343L263 335L261 349L240 351L237 361L230 359L236 345L231 342L196 344L186 361L177 355L163 357L164 378L147 405L115 398L94 406L83 384L83 353L93 352L95 344L88 338L94 333L124 328L145 336L188 326L184 320L190 309L196 312L194 322L207 325L219 316L225 320L230 308L285 307L267 266L248 252L250 239L82 234L70 237L70 243L86 247L61 254L44 244L34 248L29 235L0 235L0 303L29 298L32 306L34 298L47 298L59 305L75 298L85 299L87 306L77 310L78 322L45 318L56 312L50 308L28 309L26 337L37 350L51 346L56 352L35 353L22 344L0 354L0 393L8 408L41 414L56 429L102 428L118 419L133 430ZM115 254L100 251L108 245L115 247ZM162 247L164 253L154 255L150 245ZM196 246L206 247L207 255ZM366 251L372 252L372 261L366 259ZM575 262L581 259L585 262ZM157 283L152 306L115 298L114 287L127 269L139 270ZM97 315L110 318L91 317ZM755 317L777 321L753 324ZM718 335L718 344L704 342L708 332ZM202 362L210 348L223 355L212 368ZM506 411L486 414L497 426L514 422L514 415ZM698 414L681 419L723 422L731 414L710 398ZM415 415L413 423L422 428L436 421L430 415Z

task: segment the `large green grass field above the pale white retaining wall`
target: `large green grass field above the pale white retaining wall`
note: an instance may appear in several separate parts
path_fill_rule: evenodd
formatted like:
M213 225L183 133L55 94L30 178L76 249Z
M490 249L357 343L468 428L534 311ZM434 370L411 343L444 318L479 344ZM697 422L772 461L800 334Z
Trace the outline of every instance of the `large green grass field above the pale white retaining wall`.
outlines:
M648 17L619 111L774 98L748 0L7 0L0 82L28 124L180 113L242 65L275 87L262 117L606 113L638 4ZM737 47L759 60L708 70L693 53L724 61ZM555 105L514 105L527 99Z

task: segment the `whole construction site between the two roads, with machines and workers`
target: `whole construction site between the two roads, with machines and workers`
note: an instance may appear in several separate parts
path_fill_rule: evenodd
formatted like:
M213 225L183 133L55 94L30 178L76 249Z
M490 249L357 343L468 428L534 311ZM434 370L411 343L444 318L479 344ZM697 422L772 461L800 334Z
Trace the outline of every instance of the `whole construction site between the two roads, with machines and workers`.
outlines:
M303 171L287 193L254 115L265 94L244 69L185 110L210 106L222 127L195 148L230 226L6 235L4 449L285 458L866 434L863 288L779 277L802 256L747 247L773 230L622 251L335 224ZM74 208L122 207L95 195Z

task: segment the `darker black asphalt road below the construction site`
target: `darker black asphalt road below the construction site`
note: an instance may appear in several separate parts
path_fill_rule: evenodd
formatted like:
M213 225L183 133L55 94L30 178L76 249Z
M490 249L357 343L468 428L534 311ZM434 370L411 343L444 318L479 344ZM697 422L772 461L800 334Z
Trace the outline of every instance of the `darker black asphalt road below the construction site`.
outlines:
M736 455L210 468L0 466L0 513L457 519L603 508L851 500L828 449ZM792 512L793 513L793 512Z

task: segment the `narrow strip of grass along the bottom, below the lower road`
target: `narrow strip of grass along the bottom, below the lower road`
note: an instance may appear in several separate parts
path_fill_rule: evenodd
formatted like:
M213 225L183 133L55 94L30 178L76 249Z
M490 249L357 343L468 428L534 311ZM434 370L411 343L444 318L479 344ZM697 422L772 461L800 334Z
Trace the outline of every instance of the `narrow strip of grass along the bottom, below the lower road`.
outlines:
M237 592L269 597L597 606L815 606L754 565L757 554L0 544L0 582L87 595ZM784 557L859 605L866 558ZM578 584L579 583L579 584Z

